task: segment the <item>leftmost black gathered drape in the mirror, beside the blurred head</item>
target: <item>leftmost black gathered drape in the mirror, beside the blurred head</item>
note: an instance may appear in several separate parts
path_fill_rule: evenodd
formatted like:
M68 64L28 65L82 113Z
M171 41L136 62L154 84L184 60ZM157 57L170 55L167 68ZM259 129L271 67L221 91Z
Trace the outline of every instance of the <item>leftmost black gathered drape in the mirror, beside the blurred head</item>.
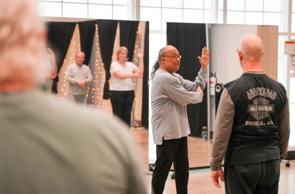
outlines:
M63 65L63 60L68 52L71 38L76 27L76 22L47 22L47 46L51 48L55 55L58 72ZM53 94L57 94L58 76L53 79Z

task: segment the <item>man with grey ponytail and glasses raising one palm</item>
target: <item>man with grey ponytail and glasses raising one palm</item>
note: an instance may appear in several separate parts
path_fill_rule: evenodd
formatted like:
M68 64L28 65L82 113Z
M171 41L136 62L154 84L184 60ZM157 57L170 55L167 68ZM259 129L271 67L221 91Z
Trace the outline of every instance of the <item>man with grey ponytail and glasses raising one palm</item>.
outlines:
M183 79L175 72L181 56L171 46L161 48L151 74L152 130L157 159L152 178L152 193L164 191L168 173L174 163L177 193L187 193L189 158L187 136L191 133L186 105L199 103L207 83L209 51L202 50L198 57L202 65L195 81Z

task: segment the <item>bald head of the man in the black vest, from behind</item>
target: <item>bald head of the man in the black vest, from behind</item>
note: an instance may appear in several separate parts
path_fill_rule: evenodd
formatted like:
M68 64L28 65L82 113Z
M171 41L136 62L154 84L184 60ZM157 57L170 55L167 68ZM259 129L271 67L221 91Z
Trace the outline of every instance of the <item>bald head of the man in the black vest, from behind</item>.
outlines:
M263 42L255 34L247 34L240 41L240 52L245 61L260 61L263 52Z

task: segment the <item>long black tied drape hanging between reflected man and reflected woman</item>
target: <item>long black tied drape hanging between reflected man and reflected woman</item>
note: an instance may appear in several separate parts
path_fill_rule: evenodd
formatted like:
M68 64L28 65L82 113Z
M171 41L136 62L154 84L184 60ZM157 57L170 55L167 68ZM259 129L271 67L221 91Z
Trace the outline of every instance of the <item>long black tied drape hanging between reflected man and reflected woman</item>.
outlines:
M103 99L109 99L109 79L111 78L110 66L112 62L118 20L103 19L97 21L101 59L104 63L104 70L106 71Z

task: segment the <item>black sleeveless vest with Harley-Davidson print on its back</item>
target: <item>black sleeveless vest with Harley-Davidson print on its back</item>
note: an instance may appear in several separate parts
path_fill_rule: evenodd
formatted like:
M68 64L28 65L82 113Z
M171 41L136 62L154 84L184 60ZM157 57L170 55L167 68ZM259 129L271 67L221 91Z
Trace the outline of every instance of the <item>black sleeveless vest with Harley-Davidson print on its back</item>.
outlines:
M225 85L235 105L225 165L280 159L280 114L286 103L282 84L266 74L245 73Z

